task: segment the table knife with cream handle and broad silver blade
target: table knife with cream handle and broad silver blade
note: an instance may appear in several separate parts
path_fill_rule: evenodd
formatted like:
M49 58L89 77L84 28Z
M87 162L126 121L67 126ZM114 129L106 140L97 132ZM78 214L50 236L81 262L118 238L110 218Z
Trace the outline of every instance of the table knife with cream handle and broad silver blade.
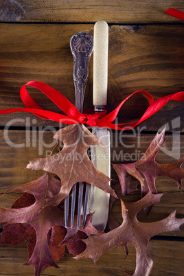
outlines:
M95 112L102 112L106 110L108 78L108 24L105 21L95 23L93 43L93 106ZM104 146L91 146L91 161L97 170L111 178L110 132L93 127L92 133ZM91 185L88 214L95 211L91 223L99 231L106 227L109 197L110 194Z

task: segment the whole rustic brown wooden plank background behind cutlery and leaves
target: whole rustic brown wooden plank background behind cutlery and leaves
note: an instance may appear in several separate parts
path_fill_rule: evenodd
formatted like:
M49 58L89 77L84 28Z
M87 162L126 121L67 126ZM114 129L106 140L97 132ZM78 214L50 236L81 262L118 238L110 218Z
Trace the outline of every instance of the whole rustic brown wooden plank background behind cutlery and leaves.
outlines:
M74 104L73 58L69 40L73 34L81 31L93 35L93 24L98 20L105 20L109 25L108 111L115 108L124 97L140 89L150 92L154 99L182 91L183 22L164 14L168 8L184 11L183 0L1 0L0 108L23 107L19 90L30 80L46 82ZM93 56L84 108L92 108L92 65ZM30 90L30 93L43 108L58 111L38 91ZM133 97L122 108L118 122L137 119L147 106L145 97ZM14 120L11 121L12 119ZM3 193L10 187L27 183L42 174L24 168L28 161L38 155L44 157L47 154L47 150L51 149L49 144L52 147L54 129L59 126L25 113L1 115L0 122L0 193ZM133 132L126 133L132 135L131 139L123 136L124 143L129 143L132 148L123 149L119 143L112 143L112 162L130 161L118 159L121 150L126 150L128 154L137 152L138 159L138 155L148 148L154 135L164 124L167 124L167 142L165 152L159 152L157 161L178 161L184 155L183 122L183 104L169 102L156 115L135 128L135 135ZM8 124L11 126L5 130ZM113 141L115 133L111 136ZM44 143L39 145L39 140ZM17 144L20 145L19 148L14 146ZM117 179L115 172L112 171L112 175ZM157 189L165 194L162 203L152 209L148 220L165 218L174 209L177 210L176 216L183 218L184 193L179 192L176 183L161 177L157 179ZM5 196L1 199L1 207L10 207L14 198L14 194ZM139 192L127 196L126 200L138 198ZM114 211L120 221L119 205L115 205ZM139 214L139 219L145 221L143 212ZM150 275L183 275L183 236L184 225L181 231L163 233L150 240L148 250L154 261ZM33 266L22 266L27 262L25 244L0 248L1 275L33 275ZM47 268L43 275L124 275L124 271L133 273L135 249L131 244L126 260L124 257L125 253L119 246L105 253L94 265L91 259L73 260L66 250L65 257L59 262L61 270Z

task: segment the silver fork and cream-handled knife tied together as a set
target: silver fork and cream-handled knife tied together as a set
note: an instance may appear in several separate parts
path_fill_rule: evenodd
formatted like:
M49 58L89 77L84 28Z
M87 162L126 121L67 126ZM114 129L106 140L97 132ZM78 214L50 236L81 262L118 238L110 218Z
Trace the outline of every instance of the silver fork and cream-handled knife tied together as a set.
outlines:
M73 81L76 92L76 108L82 113L84 92L89 76L89 60L93 51L93 106L94 112L106 110L108 86L108 24L97 21L94 26L94 41L91 34L80 32L70 40L73 55ZM111 177L110 133L106 128L93 127L93 135L102 145L91 146L91 161L99 170ZM110 183L109 183L110 184ZM78 191L78 193L76 193ZM76 196L78 198L76 200ZM87 214L94 212L91 223L99 231L104 231L108 220L110 194L105 193L89 183L76 183L71 190L71 208L69 196L65 198L65 226L68 225L69 209L71 209L71 228L73 227L76 201L78 201L78 228L83 214L84 228ZM84 198L84 200L82 200ZM84 203L82 202L84 201Z

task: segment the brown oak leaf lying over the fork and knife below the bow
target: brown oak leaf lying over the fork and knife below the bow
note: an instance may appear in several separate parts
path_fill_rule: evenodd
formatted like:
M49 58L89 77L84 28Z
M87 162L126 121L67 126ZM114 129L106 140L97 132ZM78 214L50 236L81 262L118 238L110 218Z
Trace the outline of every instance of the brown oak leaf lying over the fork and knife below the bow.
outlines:
M84 125L66 126L58 130L54 138L64 143L62 150L51 157L30 161L27 165L32 170L45 170L60 177L60 192L53 198L48 198L48 204L58 205L77 182L90 183L117 197L108 184L111 179L98 171L87 155L89 146L101 143Z

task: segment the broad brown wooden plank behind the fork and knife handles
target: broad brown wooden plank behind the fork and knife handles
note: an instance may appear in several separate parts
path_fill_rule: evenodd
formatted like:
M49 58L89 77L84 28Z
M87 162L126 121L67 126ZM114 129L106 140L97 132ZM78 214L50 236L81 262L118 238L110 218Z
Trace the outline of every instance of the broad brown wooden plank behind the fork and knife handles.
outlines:
M1 24L1 109L23 107L19 89L30 80L46 82L75 104L69 40L82 30L93 34L93 25ZM113 25L109 31L108 111L116 108L124 97L140 89L150 92L154 99L183 89L183 25L147 25L137 29ZM93 108L92 87L93 58L84 108ZM43 108L60 112L43 93L35 89L30 93ZM134 95L122 107L117 122L138 119L146 107L146 98ZM183 103L171 101L141 126L147 130L158 130L168 122L168 130L173 130L172 120L179 116L180 130L183 130ZM14 117L17 118L14 126L25 126L25 122L20 122L25 117L30 117L33 126L58 126L58 123L27 113L1 115L1 126ZM32 122L34 118L36 121Z

